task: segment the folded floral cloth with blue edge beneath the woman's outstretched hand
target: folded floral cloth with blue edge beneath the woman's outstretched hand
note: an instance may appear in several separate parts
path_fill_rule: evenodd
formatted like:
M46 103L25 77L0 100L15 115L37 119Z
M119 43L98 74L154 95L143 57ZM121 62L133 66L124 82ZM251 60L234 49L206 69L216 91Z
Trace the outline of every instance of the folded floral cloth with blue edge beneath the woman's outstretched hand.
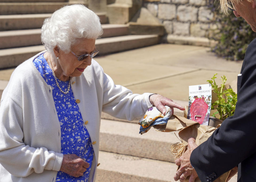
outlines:
M165 108L167 110L165 115L163 115L156 107L149 108L144 117L139 120L139 125L141 125L139 133L146 133L155 125L165 125L172 115L171 108L168 106L165 106Z

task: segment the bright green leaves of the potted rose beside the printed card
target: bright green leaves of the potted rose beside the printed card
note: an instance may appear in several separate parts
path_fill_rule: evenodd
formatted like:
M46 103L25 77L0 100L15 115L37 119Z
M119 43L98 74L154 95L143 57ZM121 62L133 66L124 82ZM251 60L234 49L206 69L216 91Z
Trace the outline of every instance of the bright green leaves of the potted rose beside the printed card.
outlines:
M215 82L215 77L217 75L214 74L211 80L207 80L213 88L213 92L217 94L218 100L212 103L211 109L214 109L214 106L217 106L217 112L215 112L212 116L215 117L215 114L220 115L220 119L224 120L227 117L234 115L235 105L237 103L237 94L233 91L233 89L227 89L225 83L227 78L223 75L221 77L221 87L218 89L218 85Z

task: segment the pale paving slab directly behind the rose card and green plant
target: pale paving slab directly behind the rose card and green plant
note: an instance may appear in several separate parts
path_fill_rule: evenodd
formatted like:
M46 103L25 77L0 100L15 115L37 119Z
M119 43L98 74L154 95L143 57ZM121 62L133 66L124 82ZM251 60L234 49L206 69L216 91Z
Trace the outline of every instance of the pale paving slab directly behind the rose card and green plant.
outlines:
M132 90L134 93L142 94L146 91L150 93L158 93L171 99L188 101L189 85L207 84L208 82L206 82L206 80L211 79L211 77L215 73L218 73L217 78L225 75L228 79L227 83L235 80L238 74L237 72L226 72L217 70L211 71L202 69L169 78L153 80L137 85L129 85L127 86L127 88ZM221 81L218 79L216 80L216 82L217 85L221 84Z

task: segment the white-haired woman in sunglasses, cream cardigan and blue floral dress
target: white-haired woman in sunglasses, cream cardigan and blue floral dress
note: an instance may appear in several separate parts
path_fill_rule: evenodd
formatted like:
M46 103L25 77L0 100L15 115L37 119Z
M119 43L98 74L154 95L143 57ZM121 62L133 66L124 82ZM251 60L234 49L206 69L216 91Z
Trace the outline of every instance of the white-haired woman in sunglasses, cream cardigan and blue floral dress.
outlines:
M0 107L0 181L94 181L101 112L132 120L155 105L183 107L158 94L115 85L92 59L98 16L65 6L46 19L46 51L13 72Z

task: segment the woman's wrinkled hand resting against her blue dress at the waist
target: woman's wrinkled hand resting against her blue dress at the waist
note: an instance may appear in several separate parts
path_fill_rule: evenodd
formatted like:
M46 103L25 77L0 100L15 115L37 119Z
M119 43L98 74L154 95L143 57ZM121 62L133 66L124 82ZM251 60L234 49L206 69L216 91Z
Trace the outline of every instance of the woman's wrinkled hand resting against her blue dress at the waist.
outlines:
M75 154L64 154L60 171L73 177L79 177L83 176L83 173L89 166L89 163L85 162Z

